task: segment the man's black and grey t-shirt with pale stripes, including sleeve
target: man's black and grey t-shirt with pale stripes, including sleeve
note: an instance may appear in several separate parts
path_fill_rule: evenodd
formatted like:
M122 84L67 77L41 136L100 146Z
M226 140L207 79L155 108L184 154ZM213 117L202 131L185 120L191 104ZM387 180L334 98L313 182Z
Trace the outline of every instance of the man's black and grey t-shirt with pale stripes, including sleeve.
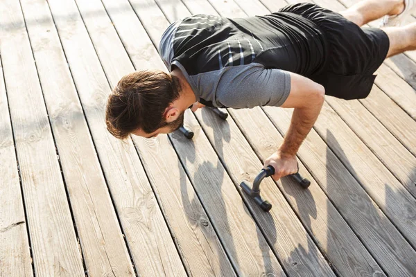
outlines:
M312 75L325 58L318 26L290 12L187 17L169 26L159 52L169 69L181 69L200 102L234 108L281 105L288 72Z

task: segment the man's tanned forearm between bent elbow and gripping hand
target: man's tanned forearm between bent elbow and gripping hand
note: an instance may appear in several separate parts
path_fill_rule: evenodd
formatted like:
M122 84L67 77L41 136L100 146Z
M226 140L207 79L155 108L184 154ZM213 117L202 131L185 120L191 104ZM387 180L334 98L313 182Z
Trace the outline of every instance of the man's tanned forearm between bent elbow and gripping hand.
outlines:
M295 156L300 145L311 131L313 124L320 114L323 104L323 97L311 101L308 107L295 108L292 115L291 125L280 145L279 154L281 156Z

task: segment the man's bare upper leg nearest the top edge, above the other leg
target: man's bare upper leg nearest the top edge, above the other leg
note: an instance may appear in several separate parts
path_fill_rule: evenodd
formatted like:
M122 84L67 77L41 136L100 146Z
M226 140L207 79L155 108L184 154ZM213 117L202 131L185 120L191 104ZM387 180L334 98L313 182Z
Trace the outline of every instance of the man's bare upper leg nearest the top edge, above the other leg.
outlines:
M365 0L340 12L343 17L363 26L384 15L399 15L404 10L404 0Z

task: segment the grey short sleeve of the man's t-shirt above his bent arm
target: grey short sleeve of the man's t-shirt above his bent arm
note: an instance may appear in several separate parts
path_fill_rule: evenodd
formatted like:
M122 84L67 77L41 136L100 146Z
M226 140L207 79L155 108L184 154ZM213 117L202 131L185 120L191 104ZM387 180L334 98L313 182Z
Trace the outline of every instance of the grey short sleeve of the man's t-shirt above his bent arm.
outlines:
M261 64L229 67L220 75L216 87L218 106L234 109L278 107L291 92L291 75L287 71L266 69Z

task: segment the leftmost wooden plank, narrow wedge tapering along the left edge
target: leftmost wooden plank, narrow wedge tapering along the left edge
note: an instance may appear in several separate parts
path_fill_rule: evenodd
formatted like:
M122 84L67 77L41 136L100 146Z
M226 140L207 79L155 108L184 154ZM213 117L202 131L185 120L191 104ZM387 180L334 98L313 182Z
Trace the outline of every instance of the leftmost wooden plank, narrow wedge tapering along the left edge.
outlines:
M1 60L0 69L0 276L33 276Z

